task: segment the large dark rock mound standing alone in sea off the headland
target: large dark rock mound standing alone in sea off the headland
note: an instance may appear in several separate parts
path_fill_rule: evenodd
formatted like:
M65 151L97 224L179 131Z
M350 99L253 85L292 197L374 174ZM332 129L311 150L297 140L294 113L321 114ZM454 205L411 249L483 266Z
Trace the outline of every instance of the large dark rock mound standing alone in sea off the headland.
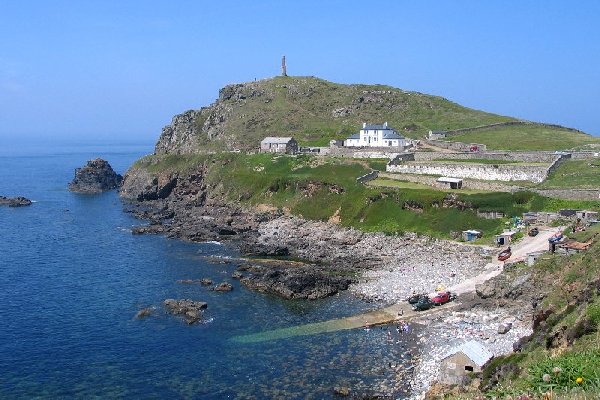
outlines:
M123 177L113 171L108 162L101 158L88 161L82 168L75 169L75 178L69 183L69 190L78 193L100 193L117 189Z

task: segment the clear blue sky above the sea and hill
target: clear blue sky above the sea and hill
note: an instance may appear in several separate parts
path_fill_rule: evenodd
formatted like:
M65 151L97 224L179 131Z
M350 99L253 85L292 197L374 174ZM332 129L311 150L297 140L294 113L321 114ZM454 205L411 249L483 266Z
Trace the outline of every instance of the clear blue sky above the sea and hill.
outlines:
M0 2L0 138L154 141L228 83L381 83L600 135L600 1Z

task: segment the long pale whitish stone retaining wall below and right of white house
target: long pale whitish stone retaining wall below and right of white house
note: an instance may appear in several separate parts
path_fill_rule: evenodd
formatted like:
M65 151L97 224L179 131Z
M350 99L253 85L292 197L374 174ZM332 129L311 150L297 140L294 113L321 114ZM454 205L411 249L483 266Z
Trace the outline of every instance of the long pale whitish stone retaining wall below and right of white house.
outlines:
M472 178L497 181L543 182L547 175L546 165L510 165L510 164L451 164L436 162L411 162L387 165L386 172L405 174L443 175L456 178Z

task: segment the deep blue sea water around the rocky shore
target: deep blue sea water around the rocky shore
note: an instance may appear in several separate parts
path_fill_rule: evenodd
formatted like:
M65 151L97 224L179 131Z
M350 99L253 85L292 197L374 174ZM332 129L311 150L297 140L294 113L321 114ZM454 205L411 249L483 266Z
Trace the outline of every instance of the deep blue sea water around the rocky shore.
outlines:
M139 224L118 194L67 190L74 169L102 157L123 174L151 145L44 146L0 150L0 195L30 207L0 207L0 398L333 398L387 393L391 364L411 365L401 336L353 330L241 343L239 335L323 321L373 308L341 294L285 301L230 278L235 248L135 236ZM180 279L234 285L217 293ZM167 298L208 303L188 326ZM136 319L142 308L154 314ZM387 388L387 389L386 389Z

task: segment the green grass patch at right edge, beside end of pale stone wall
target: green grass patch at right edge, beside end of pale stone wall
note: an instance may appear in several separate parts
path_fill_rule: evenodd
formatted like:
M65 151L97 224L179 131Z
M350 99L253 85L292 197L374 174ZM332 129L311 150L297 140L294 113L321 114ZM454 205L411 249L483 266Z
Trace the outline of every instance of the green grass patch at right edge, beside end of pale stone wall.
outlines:
M600 159L564 161L539 187L600 190Z

